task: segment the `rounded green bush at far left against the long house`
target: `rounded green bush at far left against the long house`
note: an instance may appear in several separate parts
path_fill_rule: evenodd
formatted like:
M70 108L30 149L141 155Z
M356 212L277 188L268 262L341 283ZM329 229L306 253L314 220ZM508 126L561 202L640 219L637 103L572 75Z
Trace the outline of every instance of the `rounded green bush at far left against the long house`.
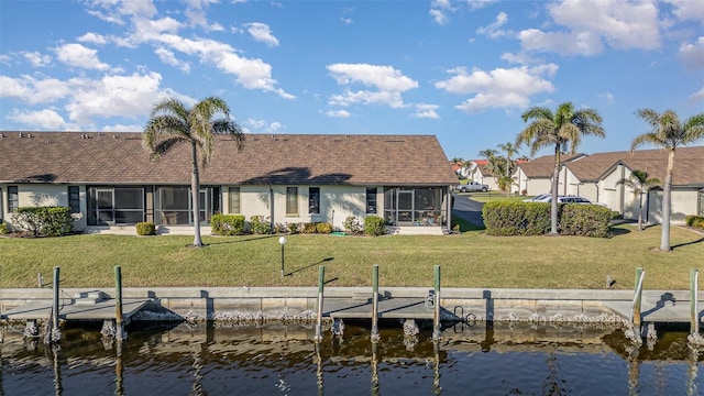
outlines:
M35 237L62 237L74 231L68 207L21 207L10 218L14 228Z

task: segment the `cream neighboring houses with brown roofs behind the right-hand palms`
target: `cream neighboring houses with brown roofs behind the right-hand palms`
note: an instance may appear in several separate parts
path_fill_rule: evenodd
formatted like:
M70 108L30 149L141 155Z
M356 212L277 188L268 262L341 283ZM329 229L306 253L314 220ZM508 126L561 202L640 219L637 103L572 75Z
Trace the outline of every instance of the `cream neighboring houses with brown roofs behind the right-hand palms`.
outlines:
M519 164L516 173L520 188L528 195L549 193L552 180L552 156ZM579 195L605 204L625 219L638 218L639 196L618 180L630 177L632 170L645 170L664 182L668 153L664 150L640 150L634 153L608 152L581 154L562 162L558 194ZM662 220L662 190L644 197L644 219ZM680 147L676 151L672 179L673 223L684 222L688 215L704 216L704 146Z

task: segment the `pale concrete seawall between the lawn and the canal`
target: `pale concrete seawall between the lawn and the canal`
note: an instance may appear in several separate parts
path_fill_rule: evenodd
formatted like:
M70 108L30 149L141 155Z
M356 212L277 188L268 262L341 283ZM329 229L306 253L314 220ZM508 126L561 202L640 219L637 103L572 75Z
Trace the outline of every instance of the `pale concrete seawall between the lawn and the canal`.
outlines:
M67 288L61 290L61 302L70 304L77 293L101 290L114 296L114 289ZM382 298L418 298L428 295L427 287L380 288ZM689 305L689 292L647 290L644 304L656 304L661 295L678 304ZM329 287L324 300L360 299L372 296L370 287ZM650 296L650 297L649 297ZM122 297L151 299L143 320L164 320L173 312L188 320L314 320L316 287L172 287L124 288ZM477 289L443 288L440 306L443 319L494 321L569 321L625 323L628 320L631 290L583 289ZM0 289L0 312L33 300L51 301L50 288ZM648 302L650 301L650 302ZM323 302L324 307L324 302Z

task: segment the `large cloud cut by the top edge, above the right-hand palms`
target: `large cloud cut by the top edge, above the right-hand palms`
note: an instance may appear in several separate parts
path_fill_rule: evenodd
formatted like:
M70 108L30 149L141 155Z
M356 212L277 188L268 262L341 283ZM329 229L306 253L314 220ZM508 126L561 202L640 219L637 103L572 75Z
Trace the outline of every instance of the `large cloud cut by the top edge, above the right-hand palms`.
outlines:
M562 0L550 3L548 10L566 31L524 30L518 34L524 50L588 56L602 52L604 43L619 50L661 45L658 8L652 2Z

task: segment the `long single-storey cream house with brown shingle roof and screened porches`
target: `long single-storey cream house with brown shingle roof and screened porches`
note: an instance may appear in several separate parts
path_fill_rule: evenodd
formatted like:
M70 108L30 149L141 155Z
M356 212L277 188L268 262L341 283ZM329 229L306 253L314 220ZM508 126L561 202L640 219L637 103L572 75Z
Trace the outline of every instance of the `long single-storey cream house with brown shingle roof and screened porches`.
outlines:
M150 161L142 133L0 133L0 218L25 206L68 206L85 232L193 232L190 146ZM200 167L200 217L264 216L272 224L383 217L391 232L450 228L448 158L432 135L227 135ZM10 224L12 226L12 224ZM419 227L426 226L426 227ZM206 231L208 232L208 231Z

